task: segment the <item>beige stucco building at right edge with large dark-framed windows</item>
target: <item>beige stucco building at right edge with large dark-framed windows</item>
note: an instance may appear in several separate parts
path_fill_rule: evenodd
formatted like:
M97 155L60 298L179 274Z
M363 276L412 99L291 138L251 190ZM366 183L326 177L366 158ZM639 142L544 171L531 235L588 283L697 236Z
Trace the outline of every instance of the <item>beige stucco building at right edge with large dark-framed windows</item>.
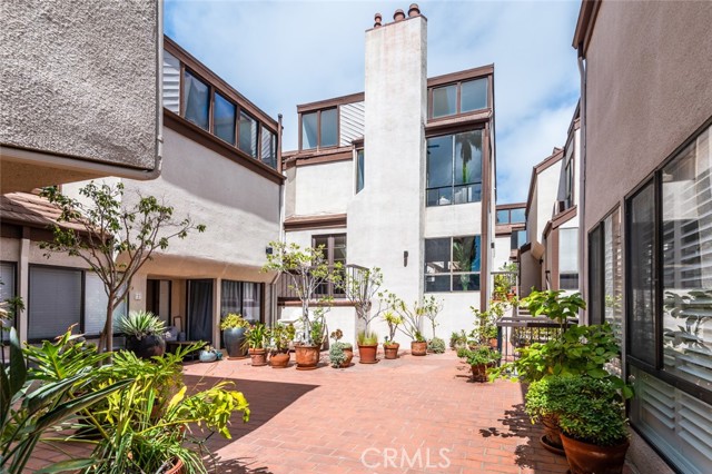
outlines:
M582 288L621 338L646 473L712 466L710 24L710 2L585 1L573 40Z

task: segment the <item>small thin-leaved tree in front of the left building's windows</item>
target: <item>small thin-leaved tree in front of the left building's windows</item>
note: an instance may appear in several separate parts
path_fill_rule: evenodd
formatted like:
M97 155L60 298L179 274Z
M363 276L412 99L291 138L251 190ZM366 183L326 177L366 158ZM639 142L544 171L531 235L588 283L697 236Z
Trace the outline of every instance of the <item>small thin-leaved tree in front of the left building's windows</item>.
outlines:
M99 350L112 350L113 310L126 298L136 273L152 259L157 249L168 248L175 237L186 238L190 230L205 231L189 217L174 218L174 208L154 196L138 196L130 206L122 204L123 185L89 182L79 189L82 200L73 199L53 186L40 196L59 207L52 226L53 240L40 244L44 254L66 253L81 258L101 279L107 294L107 319L99 338ZM66 223L66 225L62 225ZM121 260L119 260L119 256Z

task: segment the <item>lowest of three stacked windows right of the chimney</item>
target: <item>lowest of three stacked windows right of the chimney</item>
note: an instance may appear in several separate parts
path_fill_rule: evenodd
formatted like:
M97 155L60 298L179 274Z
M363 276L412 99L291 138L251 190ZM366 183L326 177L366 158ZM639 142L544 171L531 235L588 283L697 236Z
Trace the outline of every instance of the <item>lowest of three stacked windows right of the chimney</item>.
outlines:
M479 290L479 236L425 240L425 292Z

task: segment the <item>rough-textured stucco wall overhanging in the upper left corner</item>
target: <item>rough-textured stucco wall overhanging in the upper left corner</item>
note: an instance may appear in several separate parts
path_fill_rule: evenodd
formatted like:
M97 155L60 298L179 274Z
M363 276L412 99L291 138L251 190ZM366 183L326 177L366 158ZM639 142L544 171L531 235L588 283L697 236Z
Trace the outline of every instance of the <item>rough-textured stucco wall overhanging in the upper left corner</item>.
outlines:
M160 13L157 0L3 2L0 144L154 169Z

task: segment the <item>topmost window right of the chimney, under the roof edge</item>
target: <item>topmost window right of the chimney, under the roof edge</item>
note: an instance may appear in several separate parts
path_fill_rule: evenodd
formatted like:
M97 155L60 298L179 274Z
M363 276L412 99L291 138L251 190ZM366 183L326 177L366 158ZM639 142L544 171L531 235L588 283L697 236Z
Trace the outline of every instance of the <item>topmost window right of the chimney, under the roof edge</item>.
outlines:
M431 118L454 116L487 108L488 78L431 89Z

